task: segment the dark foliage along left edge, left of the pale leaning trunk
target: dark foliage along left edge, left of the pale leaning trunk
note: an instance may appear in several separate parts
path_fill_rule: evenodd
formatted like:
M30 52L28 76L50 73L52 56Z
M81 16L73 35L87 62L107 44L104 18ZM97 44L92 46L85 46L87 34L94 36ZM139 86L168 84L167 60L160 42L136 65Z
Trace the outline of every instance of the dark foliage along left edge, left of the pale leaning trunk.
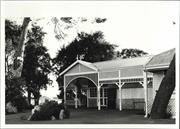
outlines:
M24 94L25 80L21 77L14 78L12 73L15 50L20 40L22 27L15 22L5 20L5 101L11 102L18 111L27 108Z

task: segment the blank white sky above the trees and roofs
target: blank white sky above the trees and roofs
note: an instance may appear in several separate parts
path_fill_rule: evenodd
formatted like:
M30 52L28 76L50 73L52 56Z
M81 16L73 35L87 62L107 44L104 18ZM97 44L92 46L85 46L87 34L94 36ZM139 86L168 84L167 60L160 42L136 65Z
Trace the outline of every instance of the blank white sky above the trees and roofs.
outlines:
M179 3L176 1L121 1L121 2L39 2L4 3L4 16L22 21L23 16L42 18L38 24L47 32L44 45L55 57L62 45L71 42L78 32L102 31L106 41L123 48L138 48L151 55L179 46ZM86 22L76 29L66 30L67 37L58 41L54 36L51 18L95 17L107 18L102 24ZM178 47L179 48L179 47ZM55 79L55 78L54 78ZM54 84L57 92L57 84ZM47 93L52 95L53 90ZM46 93L43 92L45 95Z

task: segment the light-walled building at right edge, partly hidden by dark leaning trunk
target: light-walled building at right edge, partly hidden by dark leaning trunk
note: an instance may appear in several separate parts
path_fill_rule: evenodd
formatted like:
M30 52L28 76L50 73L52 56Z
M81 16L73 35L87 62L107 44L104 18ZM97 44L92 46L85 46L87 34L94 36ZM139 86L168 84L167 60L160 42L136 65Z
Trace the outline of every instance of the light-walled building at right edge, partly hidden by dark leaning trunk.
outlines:
M171 49L155 55L152 59L146 64L145 71L151 72L153 74L153 91L152 98L148 100L148 113L151 111L152 103L156 96L156 92L159 89L162 79L164 78L169 65L175 56L175 49ZM172 117L175 117L175 90L169 101L167 112L169 112Z

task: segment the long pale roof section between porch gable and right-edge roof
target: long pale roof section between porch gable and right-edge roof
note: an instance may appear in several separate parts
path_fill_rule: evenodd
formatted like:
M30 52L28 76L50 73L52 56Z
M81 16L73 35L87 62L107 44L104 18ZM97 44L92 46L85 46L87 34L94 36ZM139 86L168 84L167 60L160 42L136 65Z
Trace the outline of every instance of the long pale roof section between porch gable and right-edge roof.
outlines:
M95 62L93 65L96 66L98 70L120 69L130 66L144 66L151 58L152 56L142 56L128 59L117 58L109 61Z

